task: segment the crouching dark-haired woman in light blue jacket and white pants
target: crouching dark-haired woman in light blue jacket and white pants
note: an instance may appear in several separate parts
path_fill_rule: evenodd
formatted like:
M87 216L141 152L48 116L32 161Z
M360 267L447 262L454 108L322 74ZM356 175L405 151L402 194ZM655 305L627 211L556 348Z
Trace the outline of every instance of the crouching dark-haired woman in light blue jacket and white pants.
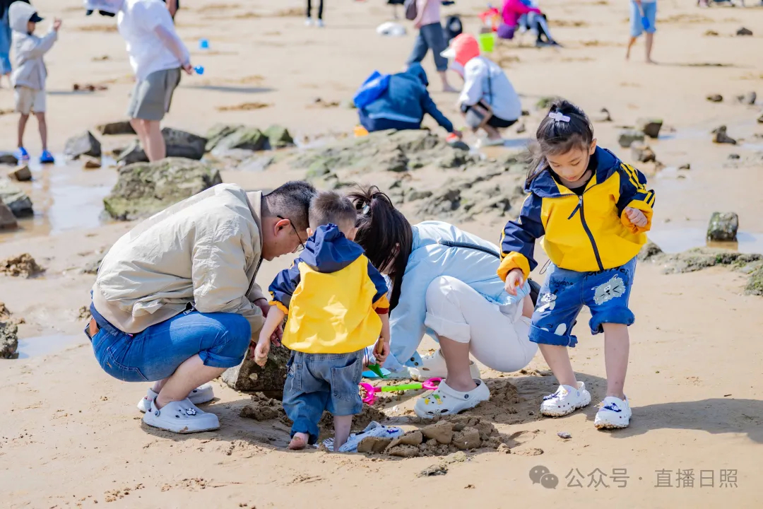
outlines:
M537 351L528 339L530 285L510 297L497 276L498 248L452 224L411 226L388 196L372 187L352 193L359 211L356 242L392 280L391 355L385 368L417 379L446 379L414 410L419 417L458 414L490 398L469 354L501 372L527 366ZM440 349L423 359L424 333Z

